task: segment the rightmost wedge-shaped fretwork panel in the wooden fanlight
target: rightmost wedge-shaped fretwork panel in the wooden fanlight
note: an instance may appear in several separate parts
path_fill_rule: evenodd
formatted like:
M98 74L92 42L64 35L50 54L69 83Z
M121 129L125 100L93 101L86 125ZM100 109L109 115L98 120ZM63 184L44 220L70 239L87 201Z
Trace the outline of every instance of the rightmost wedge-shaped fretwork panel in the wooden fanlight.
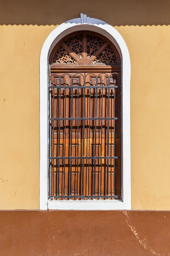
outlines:
M93 61L93 63L114 64L118 62L114 50L110 45L108 45L108 47L99 54L99 56Z

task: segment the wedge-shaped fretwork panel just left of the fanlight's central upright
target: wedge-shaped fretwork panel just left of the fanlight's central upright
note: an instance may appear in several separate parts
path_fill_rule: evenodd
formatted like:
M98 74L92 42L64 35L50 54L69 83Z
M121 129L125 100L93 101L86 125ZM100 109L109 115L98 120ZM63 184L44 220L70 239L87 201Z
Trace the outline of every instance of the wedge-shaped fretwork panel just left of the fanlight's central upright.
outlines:
M68 38L64 42L72 52L74 52L79 58L82 58L82 34L74 35Z

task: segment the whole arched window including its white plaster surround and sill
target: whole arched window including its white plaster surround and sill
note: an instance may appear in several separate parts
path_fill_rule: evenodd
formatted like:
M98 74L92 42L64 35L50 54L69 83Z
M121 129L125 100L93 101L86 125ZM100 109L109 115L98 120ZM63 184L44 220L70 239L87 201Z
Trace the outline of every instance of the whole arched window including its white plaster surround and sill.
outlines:
M42 47L40 209L47 208L130 209L129 53L113 27L86 15L60 25Z

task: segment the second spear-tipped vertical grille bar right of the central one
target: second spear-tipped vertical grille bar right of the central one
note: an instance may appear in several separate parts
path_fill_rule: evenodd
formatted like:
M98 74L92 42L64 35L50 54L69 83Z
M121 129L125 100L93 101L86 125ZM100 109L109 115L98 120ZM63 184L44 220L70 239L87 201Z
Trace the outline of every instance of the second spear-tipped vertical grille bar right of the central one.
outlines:
M108 86L110 86L110 76L108 78ZM108 87L108 118L110 115L110 88ZM109 119L107 127L107 157L109 157ZM109 159L107 158L107 175L106 175L106 195L108 195L108 180L109 180Z

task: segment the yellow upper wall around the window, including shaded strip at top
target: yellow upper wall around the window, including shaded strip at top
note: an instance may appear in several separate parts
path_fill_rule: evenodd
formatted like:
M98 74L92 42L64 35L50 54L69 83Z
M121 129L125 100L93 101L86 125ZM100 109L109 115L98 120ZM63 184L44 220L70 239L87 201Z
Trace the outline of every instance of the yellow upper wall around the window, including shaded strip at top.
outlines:
M131 58L132 209L170 210L170 1L0 3L0 209L39 209L39 60L80 12L123 36Z

